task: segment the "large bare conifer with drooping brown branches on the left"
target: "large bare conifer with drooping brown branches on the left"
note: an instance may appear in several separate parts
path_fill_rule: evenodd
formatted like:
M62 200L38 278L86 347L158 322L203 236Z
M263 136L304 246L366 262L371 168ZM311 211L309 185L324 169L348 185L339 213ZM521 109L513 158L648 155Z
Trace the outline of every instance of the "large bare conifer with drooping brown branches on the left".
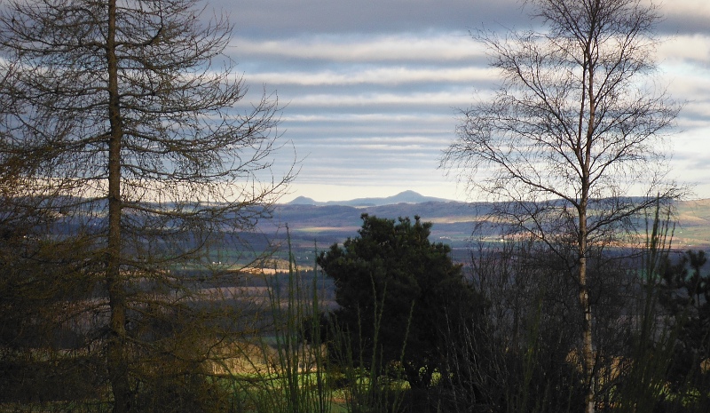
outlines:
M54 231L84 240L105 291L91 303L105 314L95 321L107 324L115 412L133 408L131 357L176 348L139 326L201 319L166 309L196 312L199 289L180 268L209 263L218 234L268 217L293 179L270 173L276 100L243 102L224 53L231 26L201 11L195 0L10 0L0 12L1 92L14 102L2 161L22 165L14 176L29 188L8 210L45 211Z

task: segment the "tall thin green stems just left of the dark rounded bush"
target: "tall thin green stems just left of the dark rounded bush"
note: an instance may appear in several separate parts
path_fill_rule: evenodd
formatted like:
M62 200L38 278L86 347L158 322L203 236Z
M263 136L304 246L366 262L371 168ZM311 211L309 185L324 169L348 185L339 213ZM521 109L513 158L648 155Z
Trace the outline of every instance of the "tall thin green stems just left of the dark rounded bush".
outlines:
M329 413L333 388L327 381L326 348L319 334L321 298L317 268L305 285L288 238L288 276L266 277L268 299L264 335L255 338L241 357L251 367L249 377L236 377L248 411L269 413ZM310 338L308 341L306 338Z

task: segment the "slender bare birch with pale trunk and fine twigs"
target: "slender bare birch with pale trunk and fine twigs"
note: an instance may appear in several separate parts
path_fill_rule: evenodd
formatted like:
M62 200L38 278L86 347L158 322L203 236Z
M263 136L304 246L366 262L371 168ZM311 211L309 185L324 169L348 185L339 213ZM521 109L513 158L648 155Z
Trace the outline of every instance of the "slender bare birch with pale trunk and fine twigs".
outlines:
M595 348L587 260L620 242L664 184L661 146L679 106L652 82L657 8L640 0L531 0L541 31L479 33L501 88L463 110L442 165L497 203L509 228L574 245L567 264L579 286L586 410L595 409ZM637 197L631 195L640 195Z

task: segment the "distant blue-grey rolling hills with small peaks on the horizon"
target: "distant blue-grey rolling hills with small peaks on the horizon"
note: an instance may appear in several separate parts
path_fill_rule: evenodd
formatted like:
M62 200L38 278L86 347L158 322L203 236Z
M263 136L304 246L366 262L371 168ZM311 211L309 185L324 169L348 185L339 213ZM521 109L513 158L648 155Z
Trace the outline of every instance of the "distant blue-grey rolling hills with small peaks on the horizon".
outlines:
M683 201L677 204L674 248L710 248L710 199ZM299 197L288 204L277 205L274 222L262 226L265 233L277 231L276 224L288 225L291 240L297 249L326 249L334 242L356 236L361 225L360 215L367 213L381 218L419 216L433 224L431 241L446 242L456 250L466 250L474 223L488 211L486 203L460 203L441 200L406 191L387 198L364 198L339 203L317 203ZM460 253L462 253L460 251ZM455 254L460 255L460 254Z

